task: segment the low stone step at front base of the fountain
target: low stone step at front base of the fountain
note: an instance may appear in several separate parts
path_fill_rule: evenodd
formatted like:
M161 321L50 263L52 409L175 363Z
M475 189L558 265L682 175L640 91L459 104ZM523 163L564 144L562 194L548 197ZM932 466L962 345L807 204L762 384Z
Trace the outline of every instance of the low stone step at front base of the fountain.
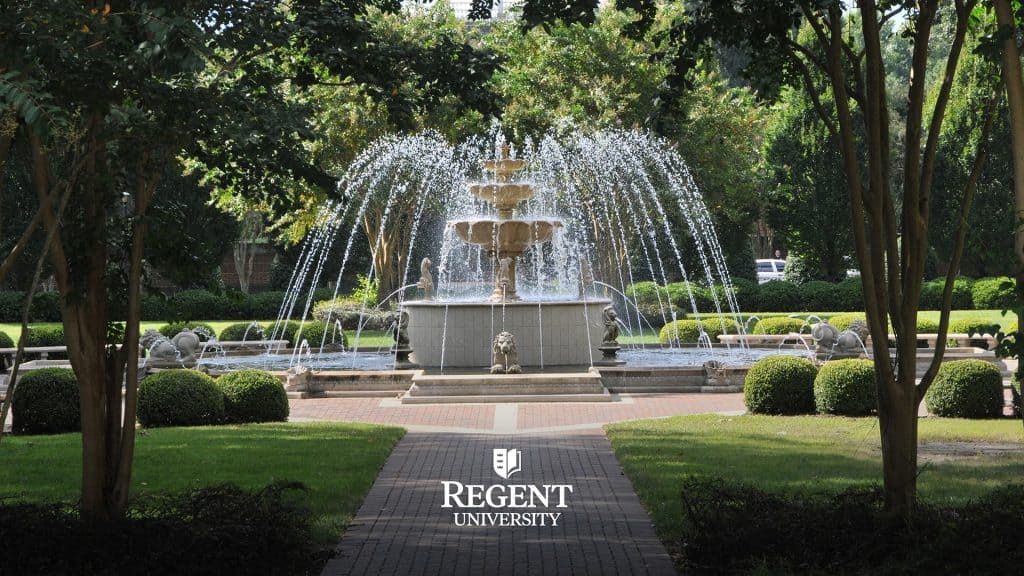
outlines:
M591 372L548 374L417 374L402 404L495 402L611 402L601 375Z

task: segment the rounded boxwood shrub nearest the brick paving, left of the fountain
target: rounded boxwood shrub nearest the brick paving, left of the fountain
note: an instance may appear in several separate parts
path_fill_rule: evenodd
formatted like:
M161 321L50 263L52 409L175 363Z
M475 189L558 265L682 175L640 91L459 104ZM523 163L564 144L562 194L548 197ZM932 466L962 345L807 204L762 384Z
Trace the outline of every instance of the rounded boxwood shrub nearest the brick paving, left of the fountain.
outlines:
M284 422L288 420L288 393L276 376L262 370L240 370L217 378L224 395L228 422Z

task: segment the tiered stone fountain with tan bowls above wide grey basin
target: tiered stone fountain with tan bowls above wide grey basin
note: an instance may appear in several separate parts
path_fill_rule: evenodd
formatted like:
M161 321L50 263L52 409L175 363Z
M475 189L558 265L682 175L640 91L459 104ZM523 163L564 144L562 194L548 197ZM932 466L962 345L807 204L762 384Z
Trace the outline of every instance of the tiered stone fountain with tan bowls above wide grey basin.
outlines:
M601 359L602 308L605 298L527 301L516 292L517 259L531 247L551 240L562 221L515 217L520 203L534 196L532 187L515 180L525 161L484 160L492 181L472 183L469 192L492 204L494 217L447 222L463 241L480 246L494 266L494 291L479 301L406 301L409 338L417 364L425 368L492 366L492 342L500 332L515 337L518 362L530 368L592 366ZM474 371L475 372L475 371Z

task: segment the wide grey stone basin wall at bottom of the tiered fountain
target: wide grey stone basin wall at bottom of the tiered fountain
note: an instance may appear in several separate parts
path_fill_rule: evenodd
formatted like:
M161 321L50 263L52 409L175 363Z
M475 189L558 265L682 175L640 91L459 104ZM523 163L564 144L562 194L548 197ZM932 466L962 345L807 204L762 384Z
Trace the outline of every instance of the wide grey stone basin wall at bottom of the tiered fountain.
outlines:
M414 300L409 312L413 360L424 367L484 368L499 332L515 337L519 365L590 366L601 359L601 311L611 301L442 302Z

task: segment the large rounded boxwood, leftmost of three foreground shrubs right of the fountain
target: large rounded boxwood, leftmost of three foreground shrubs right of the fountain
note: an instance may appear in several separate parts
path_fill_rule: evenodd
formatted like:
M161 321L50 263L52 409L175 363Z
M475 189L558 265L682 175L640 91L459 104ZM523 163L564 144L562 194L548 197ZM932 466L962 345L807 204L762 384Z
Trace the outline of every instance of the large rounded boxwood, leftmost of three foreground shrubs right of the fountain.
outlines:
M818 369L806 358L769 356L754 363L743 383L743 403L754 414L814 412Z

